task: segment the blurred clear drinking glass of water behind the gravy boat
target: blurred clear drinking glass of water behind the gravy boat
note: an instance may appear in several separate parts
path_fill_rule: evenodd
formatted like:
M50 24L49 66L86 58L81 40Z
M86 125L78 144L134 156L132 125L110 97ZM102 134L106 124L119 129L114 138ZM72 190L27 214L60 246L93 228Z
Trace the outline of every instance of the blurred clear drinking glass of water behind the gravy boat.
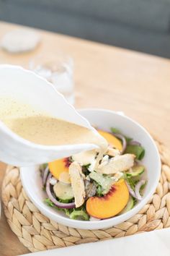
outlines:
M73 59L71 57L61 52L40 54L30 60L29 68L52 82L68 103L74 103Z

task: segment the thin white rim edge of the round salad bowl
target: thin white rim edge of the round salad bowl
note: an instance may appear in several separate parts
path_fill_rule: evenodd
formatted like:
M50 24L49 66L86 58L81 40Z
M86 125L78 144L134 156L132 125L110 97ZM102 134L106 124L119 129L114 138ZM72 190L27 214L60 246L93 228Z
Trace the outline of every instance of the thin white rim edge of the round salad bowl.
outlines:
M66 218L65 216L59 216L55 213L53 213L50 208L43 208L39 202L36 202L34 197L32 197L32 193L30 193L30 190L27 189L27 187L24 187L26 193L27 193L27 196L30 197L30 200L32 200L32 202L34 202L34 204L37 206L37 208L45 214L45 216L50 216L48 218L53 218L53 219L58 219L58 222L59 223L63 223L63 225L68 225L68 226L72 226L72 227L75 227L77 228L78 226L80 227L81 226L81 229L87 229L86 228L86 224L87 223L90 223L91 227L88 228L88 229L97 229L97 226L99 226L98 229L104 229L104 227L109 227L109 226L112 226L112 220L114 219L115 222L119 222L119 223L122 223L123 221L126 221L128 220L128 218L131 218L131 216L134 216L135 213L138 213L138 211L143 207L143 205L146 204L146 202L148 202L148 200L151 198L151 196L153 195L153 193L155 192L156 190L156 187L158 185L158 181L159 181L159 178L160 178L160 174L161 174L161 158L160 158L160 155L158 153L158 148L156 147L156 143L154 142L153 138L151 137L151 135L149 134L149 132L146 130L146 128L144 128L141 124L139 124L137 121L134 121L133 119L131 119L129 116L126 116L125 114L120 114L119 111L112 111L112 110L109 110L109 109L106 109L106 108L79 108L78 111L80 112L80 114L85 111L99 111L99 112L103 112L103 113L110 113L110 114L116 114L116 115L120 115L122 116L123 118L125 119L128 119L128 121L132 121L134 124L136 124L138 127L140 127L140 129L143 129L143 132L146 132L146 134L148 135L149 139L151 140L155 150L156 150L156 155L157 155L157 161L158 161L158 168L157 168L157 171L156 171L156 176L155 176L155 182L153 184L153 186L151 187L150 191L148 192L148 194L146 195L145 198L143 198L143 200L141 200L138 205L135 205L135 208L129 210L127 213L122 213L120 216L114 216L112 218L107 218L107 219L104 219L104 220L99 220L99 221L80 221L80 220L73 220L71 218ZM22 170L23 168L32 168L32 166L27 166L27 167L21 167L21 172L20 172L20 176L21 176L21 179L22 179L22 184L24 184L23 182L23 175L22 175ZM53 216L53 217L51 217ZM120 221L118 221L120 220ZM65 223L65 224L64 224ZM84 224L83 224L84 223ZM83 224L83 226L82 226Z

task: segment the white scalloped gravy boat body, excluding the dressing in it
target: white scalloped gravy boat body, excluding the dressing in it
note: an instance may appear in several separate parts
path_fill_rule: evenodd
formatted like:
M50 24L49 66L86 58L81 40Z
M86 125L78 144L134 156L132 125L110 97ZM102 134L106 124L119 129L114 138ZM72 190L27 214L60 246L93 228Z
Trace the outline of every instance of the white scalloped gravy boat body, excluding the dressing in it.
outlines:
M99 135L50 82L22 67L0 65L0 97L24 101L50 116L79 124ZM97 145L37 145L19 137L0 121L0 161L14 166L46 163L94 148Z

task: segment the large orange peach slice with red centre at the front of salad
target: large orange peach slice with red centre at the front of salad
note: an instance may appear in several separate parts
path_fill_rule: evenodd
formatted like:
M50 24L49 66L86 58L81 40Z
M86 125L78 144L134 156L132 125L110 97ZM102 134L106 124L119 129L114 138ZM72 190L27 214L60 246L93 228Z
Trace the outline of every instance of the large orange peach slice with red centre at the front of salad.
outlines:
M90 197L86 201L86 211L94 218L110 218L120 213L128 200L128 187L125 180L120 179L103 197Z

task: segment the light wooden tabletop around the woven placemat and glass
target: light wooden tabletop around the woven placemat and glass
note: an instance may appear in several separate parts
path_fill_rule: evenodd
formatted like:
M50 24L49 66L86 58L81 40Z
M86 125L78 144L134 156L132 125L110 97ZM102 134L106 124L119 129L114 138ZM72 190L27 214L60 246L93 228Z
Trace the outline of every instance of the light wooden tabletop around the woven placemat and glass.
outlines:
M2 36L18 25L0 22ZM39 30L40 46L27 54L0 50L0 62L28 67L36 54L61 50L75 61L76 107L109 108L143 124L170 147L170 60ZM0 183L4 175L1 163ZM12 233L4 215L0 222L0 255L28 252Z

